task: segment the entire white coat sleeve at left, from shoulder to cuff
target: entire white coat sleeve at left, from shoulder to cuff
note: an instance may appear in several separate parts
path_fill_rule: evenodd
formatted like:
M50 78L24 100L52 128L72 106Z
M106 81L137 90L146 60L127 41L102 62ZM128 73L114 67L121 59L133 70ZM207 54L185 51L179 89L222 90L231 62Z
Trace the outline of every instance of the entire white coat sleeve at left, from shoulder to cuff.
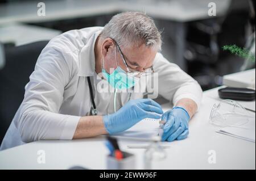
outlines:
M16 127L23 142L71 140L80 116L59 113L63 92L72 75L71 54L47 46L26 85Z

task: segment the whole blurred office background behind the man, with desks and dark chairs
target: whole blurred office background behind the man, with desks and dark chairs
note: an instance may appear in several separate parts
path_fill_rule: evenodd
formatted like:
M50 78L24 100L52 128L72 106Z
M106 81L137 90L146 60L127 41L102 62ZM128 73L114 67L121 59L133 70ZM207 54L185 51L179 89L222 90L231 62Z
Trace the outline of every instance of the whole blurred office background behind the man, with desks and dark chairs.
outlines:
M146 12L163 31L164 57L208 90L222 85L223 75L255 68L255 61L222 49L236 44L255 55L254 6L254 0L0 0L0 141L52 37L104 26L118 12Z

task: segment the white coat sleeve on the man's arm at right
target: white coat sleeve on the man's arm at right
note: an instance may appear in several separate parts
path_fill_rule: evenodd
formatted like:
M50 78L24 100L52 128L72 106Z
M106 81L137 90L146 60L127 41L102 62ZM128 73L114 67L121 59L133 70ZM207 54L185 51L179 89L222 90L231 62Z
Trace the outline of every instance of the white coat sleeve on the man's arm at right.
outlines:
M195 79L176 64L167 61L161 53L156 54L154 69L158 73L160 95L170 100L174 106L180 99L192 99L197 104L197 110L199 109L203 91Z

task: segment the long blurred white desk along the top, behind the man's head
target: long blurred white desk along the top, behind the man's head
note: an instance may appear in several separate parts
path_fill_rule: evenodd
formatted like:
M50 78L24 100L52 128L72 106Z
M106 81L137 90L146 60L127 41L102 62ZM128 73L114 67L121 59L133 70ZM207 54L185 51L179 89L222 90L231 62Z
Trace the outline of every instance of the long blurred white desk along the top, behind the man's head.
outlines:
M36 1L23 3L8 3L0 5L0 24L9 22L46 22L60 19L80 18L94 15L111 14L119 11L143 11L155 18L163 18L186 22L211 18L208 16L208 3L216 2L217 16L226 12L229 0L197 0L193 3L183 1L99 1L99 0L76 0L76 1L44 1L46 16L38 16Z

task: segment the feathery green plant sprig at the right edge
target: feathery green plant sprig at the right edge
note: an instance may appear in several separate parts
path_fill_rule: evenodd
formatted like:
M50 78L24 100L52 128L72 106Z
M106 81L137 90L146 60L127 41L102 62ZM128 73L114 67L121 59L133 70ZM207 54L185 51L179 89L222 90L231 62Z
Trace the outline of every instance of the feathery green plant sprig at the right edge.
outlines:
M232 54L235 54L236 56L255 62L255 55L251 54L246 48L240 48L237 45L224 45L222 49L229 50Z

